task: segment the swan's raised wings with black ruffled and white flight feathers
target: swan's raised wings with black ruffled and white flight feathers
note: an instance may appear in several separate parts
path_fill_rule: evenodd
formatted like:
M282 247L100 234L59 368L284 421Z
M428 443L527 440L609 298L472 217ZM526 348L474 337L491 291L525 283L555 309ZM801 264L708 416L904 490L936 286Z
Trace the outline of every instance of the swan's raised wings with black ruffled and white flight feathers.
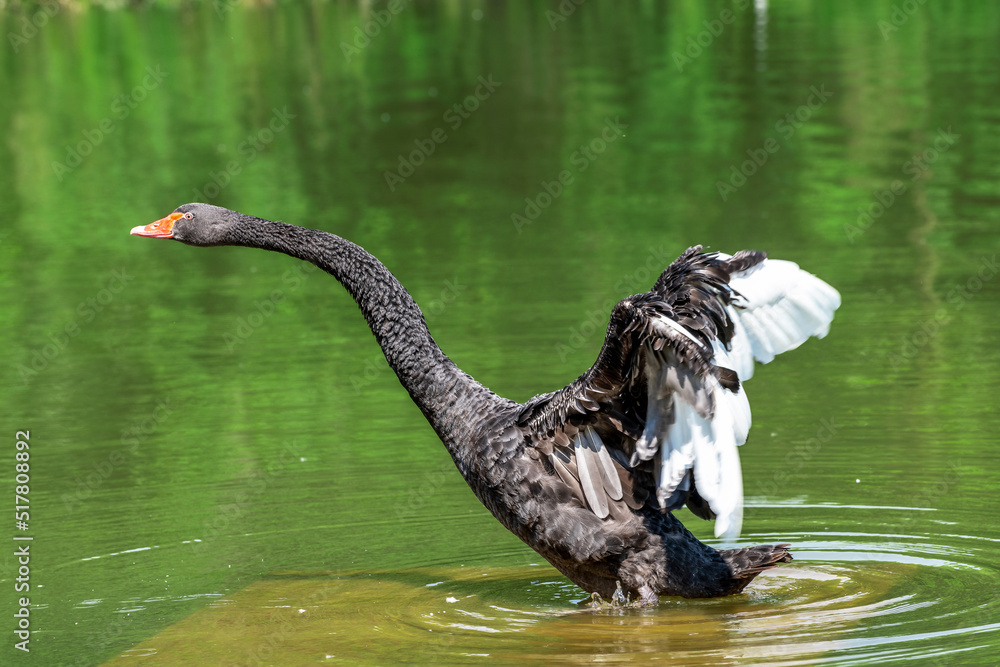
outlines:
M763 253L688 249L653 290L621 301L597 363L525 404L519 425L579 504L605 518L685 503L735 537L743 514L737 447L754 361L829 330L840 295Z

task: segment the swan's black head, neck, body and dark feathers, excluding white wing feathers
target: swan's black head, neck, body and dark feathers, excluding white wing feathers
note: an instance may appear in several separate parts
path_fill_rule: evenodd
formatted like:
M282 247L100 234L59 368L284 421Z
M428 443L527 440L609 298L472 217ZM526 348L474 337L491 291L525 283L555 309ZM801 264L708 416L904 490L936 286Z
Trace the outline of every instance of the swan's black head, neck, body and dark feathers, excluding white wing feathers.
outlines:
M724 395L718 391L739 391L737 373L716 365L713 350L728 348L734 336L730 306L739 295L730 277L761 264L763 253L726 258L688 249L650 292L614 307L592 368L559 391L517 404L445 356L409 293L345 239L206 204L186 204L133 233L273 250L332 274L480 501L587 591L610 599L620 585L643 603L658 595L727 595L791 560L787 545L719 551L699 542L670 510L686 503L713 518L709 503L691 470L677 473L673 486L659 482L662 445L644 437L649 403L660 400L650 394L650 368L662 369L654 393L676 396L706 419ZM668 428L672 406L682 403L663 405L658 418Z

